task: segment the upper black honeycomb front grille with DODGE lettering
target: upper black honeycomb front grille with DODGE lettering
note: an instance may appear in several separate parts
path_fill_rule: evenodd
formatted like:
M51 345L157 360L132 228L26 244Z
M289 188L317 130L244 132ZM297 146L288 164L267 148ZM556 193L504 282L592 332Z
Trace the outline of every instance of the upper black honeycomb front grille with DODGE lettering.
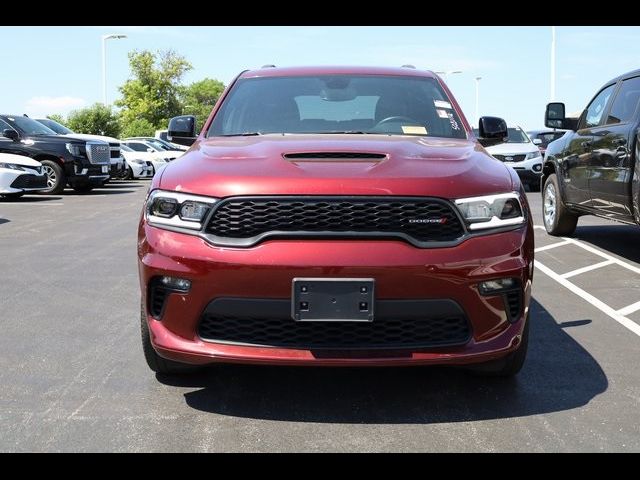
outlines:
M253 197L216 207L206 232L236 246L270 236L399 237L425 246L464 234L453 207L435 198Z

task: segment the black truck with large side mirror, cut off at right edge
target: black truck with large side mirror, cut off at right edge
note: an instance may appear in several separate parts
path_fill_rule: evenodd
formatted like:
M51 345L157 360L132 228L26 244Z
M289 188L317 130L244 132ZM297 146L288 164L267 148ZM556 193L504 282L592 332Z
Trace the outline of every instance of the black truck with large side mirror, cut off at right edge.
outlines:
M586 214L640 224L640 70L605 83L580 118L550 103L545 125L569 130L542 169L547 232L571 235Z

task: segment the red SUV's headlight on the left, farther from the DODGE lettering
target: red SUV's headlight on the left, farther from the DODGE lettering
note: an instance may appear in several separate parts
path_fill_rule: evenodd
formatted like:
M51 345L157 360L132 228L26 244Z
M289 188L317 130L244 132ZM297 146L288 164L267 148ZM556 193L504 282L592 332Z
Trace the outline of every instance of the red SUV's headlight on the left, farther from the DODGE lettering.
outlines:
M145 204L147 222L156 227L178 227L201 230L217 198L188 193L154 190Z

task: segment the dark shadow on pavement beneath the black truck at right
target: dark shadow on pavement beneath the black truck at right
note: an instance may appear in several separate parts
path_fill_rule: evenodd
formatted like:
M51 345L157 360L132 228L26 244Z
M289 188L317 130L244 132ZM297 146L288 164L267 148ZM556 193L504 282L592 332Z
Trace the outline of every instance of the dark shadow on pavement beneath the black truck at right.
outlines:
M609 253L640 263L640 228L635 225L589 225L576 229L574 238Z

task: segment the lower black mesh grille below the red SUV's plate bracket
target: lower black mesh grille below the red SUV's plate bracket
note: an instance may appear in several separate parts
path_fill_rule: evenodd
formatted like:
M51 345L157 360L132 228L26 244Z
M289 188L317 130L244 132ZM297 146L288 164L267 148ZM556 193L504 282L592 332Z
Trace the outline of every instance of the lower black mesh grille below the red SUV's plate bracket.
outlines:
M199 326L203 340L301 349L426 348L462 345L471 331L462 317L374 320L373 322L296 322L291 318L214 316Z

